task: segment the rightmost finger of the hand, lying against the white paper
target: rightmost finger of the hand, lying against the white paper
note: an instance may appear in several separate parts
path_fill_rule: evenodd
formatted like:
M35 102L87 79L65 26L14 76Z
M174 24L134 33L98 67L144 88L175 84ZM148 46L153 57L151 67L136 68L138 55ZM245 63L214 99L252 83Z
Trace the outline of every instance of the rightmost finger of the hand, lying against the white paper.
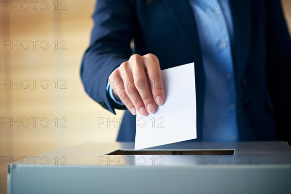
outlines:
M152 96L155 99L156 104L160 106L165 99L160 63L158 58L153 54L146 54L145 57L145 66L151 85Z

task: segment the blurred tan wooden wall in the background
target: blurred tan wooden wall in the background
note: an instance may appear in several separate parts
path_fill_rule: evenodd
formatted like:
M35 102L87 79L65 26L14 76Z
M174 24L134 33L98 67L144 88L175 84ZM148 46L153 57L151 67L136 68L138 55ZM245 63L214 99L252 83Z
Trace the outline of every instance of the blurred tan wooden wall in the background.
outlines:
M81 58L89 44L93 27L90 17L96 1L26 2L29 3L1 0L1 194L7 190L6 159L17 160L88 141L113 142L118 125L98 126L97 120L104 117L113 121L123 115L123 111L113 115L102 109L85 94L81 84ZM282 0L282 3L291 32L291 0ZM11 43L15 45L11 47ZM17 79L19 88L17 83L11 87L11 81L17 82ZM33 79L38 79L35 88ZM27 80L30 86L26 89ZM49 87L45 88L47 81Z

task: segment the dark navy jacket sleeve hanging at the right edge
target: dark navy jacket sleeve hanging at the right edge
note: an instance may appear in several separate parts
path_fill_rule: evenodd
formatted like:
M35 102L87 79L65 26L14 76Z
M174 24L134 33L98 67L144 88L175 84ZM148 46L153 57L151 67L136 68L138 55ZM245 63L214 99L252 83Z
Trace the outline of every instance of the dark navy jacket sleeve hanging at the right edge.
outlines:
M266 0L267 78L280 140L291 145L291 39L280 0Z

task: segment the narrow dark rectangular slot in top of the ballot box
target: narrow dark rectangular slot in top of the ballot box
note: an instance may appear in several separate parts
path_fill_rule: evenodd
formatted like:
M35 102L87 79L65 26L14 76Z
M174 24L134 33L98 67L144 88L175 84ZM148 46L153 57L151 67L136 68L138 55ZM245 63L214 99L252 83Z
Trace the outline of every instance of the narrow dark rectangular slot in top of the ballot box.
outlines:
M124 150L117 149L105 155L233 155L234 149L187 150Z

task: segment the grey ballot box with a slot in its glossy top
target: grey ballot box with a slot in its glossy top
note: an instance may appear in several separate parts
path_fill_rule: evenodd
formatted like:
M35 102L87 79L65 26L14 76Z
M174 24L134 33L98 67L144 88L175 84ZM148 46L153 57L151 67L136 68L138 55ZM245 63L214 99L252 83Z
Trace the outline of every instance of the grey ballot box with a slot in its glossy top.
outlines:
M87 143L8 165L11 194L291 193L286 142Z

